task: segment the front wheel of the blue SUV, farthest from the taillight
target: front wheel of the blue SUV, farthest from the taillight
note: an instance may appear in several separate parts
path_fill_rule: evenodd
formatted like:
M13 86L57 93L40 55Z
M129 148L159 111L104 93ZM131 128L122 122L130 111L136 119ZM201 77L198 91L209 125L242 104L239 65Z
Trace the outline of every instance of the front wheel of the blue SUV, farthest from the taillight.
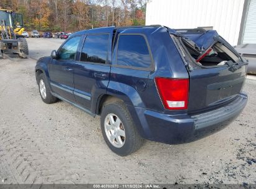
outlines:
M50 88L47 83L47 80L45 79L44 73L40 73L38 76L38 88L39 88L39 93L42 98L42 101L46 104L52 104L57 101L57 98L50 93ZM44 86L42 86L44 84Z

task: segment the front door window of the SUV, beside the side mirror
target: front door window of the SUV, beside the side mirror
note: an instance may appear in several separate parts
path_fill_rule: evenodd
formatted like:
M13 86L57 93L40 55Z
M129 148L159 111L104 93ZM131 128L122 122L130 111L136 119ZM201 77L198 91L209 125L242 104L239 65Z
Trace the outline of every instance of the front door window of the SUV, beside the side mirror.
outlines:
M80 41L80 36L69 39L59 50L59 60L75 60L77 47Z

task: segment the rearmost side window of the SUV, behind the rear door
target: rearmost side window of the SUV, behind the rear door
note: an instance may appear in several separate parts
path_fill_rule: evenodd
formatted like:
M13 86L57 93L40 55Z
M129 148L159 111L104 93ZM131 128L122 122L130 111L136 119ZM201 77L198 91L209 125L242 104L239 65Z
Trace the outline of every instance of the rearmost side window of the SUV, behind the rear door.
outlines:
M151 57L143 35L119 35L117 65L149 68Z

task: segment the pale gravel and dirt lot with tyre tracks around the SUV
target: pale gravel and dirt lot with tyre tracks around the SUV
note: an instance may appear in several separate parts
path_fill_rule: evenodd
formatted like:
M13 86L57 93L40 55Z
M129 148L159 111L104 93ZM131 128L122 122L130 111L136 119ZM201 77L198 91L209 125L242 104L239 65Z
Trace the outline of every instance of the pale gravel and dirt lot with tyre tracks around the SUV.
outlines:
M60 39L29 39L31 56L49 55ZM38 42L42 42L38 45ZM0 60L0 182L2 183L256 183L256 81L249 103L230 126L199 141L146 141L128 157L103 141L99 118L39 96L36 60Z

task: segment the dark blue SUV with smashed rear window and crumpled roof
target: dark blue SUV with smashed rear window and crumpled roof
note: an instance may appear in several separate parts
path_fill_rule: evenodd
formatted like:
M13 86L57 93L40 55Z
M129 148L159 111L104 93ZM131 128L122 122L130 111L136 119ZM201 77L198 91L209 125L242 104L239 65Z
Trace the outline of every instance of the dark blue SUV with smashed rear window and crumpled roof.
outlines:
M108 147L128 155L143 139L189 142L229 124L247 103L246 69L215 30L105 27L40 58L36 80L45 103L100 115Z

